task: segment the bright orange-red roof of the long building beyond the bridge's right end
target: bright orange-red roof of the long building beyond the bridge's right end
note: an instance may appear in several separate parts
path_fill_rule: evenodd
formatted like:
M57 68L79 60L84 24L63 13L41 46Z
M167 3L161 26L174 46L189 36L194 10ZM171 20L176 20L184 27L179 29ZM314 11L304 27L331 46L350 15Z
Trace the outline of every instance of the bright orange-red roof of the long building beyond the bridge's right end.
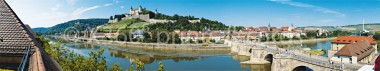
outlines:
M372 45L377 44L377 42L372 37L367 36L340 36L333 40L332 43L351 44L363 40L368 40L368 42Z

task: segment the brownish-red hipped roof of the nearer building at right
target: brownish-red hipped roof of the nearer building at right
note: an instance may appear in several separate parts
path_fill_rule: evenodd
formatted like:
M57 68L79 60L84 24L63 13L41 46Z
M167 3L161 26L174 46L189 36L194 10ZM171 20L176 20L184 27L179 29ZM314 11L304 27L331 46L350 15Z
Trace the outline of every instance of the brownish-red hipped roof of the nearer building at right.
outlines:
M335 55L341 56L357 56L358 60L370 55L375 49L369 44L369 41L362 40L343 46Z

